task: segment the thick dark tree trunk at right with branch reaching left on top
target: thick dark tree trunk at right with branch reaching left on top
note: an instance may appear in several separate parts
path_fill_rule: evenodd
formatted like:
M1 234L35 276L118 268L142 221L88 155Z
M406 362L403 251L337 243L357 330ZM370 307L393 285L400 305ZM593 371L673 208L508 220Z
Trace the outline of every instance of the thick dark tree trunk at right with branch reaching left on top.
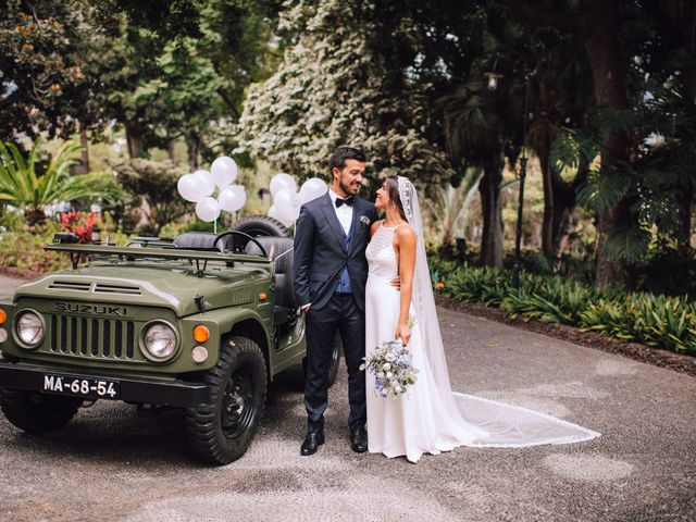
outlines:
M513 13L522 16L527 24L554 27L562 33L575 35L583 46L593 78L593 94L600 123L600 174L588 181L599 181L604 189L636 185L635 172L630 167L630 139L627 112L630 57L625 53L625 41L621 41L624 22L632 16L630 2L623 0L583 0L563 2L560 8L551 8L546 1L502 0ZM617 116L623 121L617 124ZM613 120L613 124L608 123ZM597 186L597 185L595 185ZM636 199L625 191L611 196L594 191L604 201L598 208L598 241L596 283L607 286L624 281L622 263L633 259L645 244L645 234L631 209ZM614 197L618 196L618 197Z

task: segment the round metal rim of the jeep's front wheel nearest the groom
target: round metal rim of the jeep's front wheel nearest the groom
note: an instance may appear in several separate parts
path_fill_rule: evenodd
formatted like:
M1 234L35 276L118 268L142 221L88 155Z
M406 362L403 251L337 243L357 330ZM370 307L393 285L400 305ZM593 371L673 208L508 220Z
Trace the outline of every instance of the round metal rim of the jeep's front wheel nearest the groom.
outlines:
M240 366L233 372L222 398L222 431L227 438L237 438L253 422L256 386L251 369Z

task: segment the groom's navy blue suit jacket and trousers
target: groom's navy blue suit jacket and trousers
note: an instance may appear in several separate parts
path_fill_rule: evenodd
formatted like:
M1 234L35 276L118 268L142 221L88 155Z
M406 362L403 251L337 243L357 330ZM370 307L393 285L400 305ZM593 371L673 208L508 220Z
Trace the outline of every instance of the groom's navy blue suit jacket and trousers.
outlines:
M328 194L303 204L295 228L295 299L311 303L307 320L307 381L304 406L308 430L320 432L327 406L328 368L336 332L340 334L348 368L351 428L363 427L365 413L364 302L368 281L365 248L370 226L377 220L374 206L356 198L348 235L344 232ZM337 294L347 269L350 294Z

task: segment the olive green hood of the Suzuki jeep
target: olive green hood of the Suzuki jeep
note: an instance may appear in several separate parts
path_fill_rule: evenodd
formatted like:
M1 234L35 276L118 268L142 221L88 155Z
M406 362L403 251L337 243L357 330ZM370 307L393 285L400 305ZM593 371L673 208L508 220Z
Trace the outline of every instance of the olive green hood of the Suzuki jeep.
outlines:
M64 270L25 283L14 294L55 301L165 307L177 316L197 313L196 297L206 310L253 302L258 285L269 272L258 268L208 270L202 277L191 268L161 264L94 264Z

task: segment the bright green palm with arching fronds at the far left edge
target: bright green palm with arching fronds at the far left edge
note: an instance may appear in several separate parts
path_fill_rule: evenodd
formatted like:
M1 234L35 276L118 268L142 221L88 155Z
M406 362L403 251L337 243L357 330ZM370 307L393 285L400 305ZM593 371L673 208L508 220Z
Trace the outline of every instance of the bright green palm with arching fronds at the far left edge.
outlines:
M64 142L39 173L39 141L26 158L14 144L0 141L0 201L24 210L27 224L34 225L42 223L46 207L58 201L90 197L109 202L117 200L121 189L113 176L101 173L70 175L69 167L78 161L80 151L80 146Z

